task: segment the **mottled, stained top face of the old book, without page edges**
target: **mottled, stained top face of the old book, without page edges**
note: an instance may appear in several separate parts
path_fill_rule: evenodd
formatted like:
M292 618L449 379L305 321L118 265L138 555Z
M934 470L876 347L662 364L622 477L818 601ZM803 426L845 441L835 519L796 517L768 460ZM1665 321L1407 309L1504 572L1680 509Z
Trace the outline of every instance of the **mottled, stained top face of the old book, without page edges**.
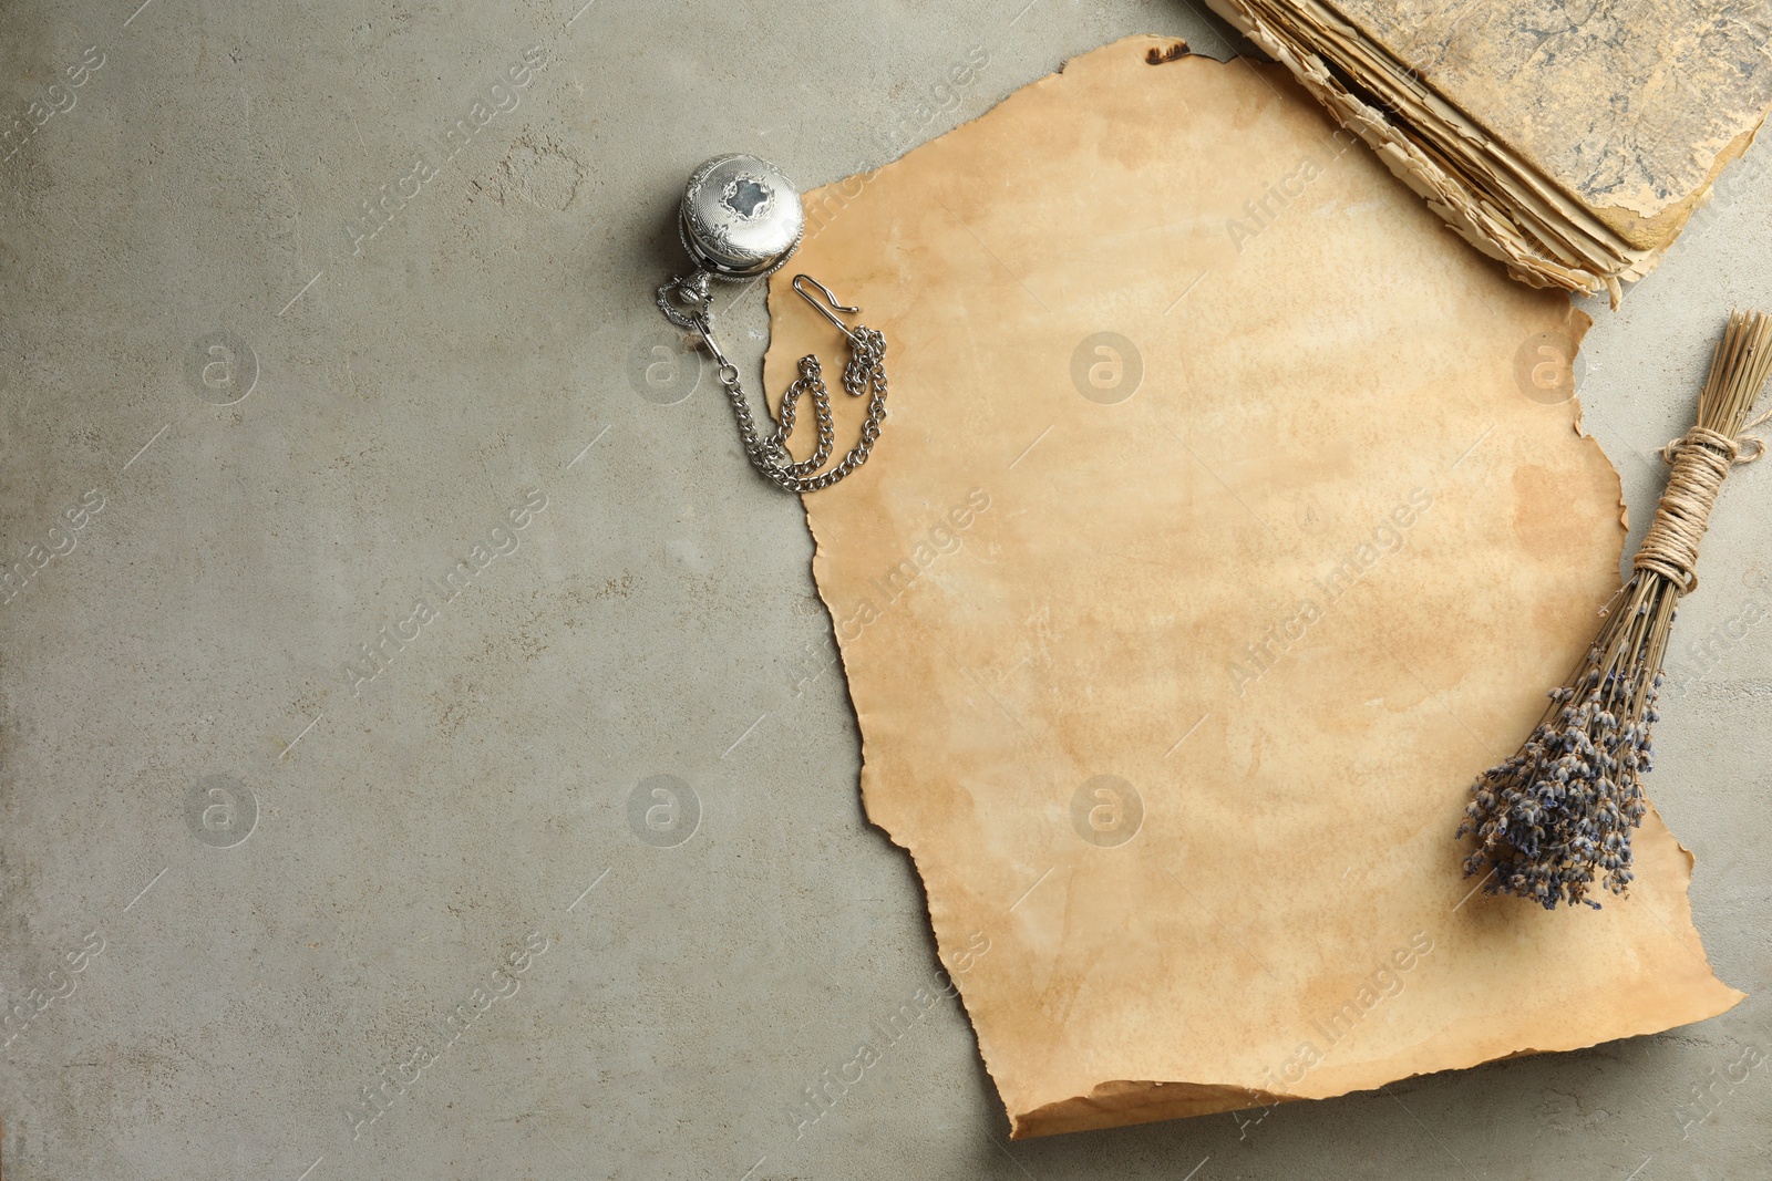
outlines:
M1637 244L1772 106L1768 0L1331 4Z

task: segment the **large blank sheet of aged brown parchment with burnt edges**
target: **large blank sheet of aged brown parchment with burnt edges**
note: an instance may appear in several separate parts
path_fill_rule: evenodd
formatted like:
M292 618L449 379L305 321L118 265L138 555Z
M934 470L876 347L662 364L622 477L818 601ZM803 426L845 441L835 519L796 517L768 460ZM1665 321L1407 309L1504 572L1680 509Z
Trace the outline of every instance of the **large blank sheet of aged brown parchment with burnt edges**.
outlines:
M1283 69L1152 48L812 193L771 285L771 390L840 356L796 271L890 342L874 459L806 498L813 568L868 816L1014 1133L1728 1009L1653 813L1602 912L1458 869L1473 776L1618 584L1618 476L1559 379L1586 317Z

